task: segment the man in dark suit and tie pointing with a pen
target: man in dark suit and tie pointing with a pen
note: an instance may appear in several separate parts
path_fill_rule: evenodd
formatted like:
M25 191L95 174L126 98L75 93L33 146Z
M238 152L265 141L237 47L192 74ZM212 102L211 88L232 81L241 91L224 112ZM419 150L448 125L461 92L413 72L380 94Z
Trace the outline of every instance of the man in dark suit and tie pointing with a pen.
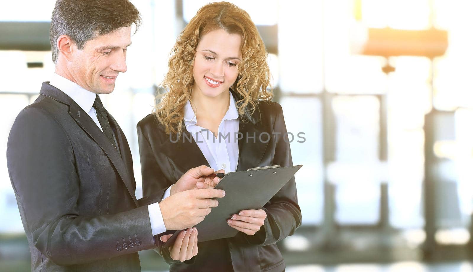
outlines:
M32 271L140 271L138 251L156 248L155 235L199 223L225 194L186 190L139 207L128 142L97 95L126 71L139 23L128 0L56 2L55 74L18 114L7 148ZM201 176L212 172L193 168L176 185L209 187Z

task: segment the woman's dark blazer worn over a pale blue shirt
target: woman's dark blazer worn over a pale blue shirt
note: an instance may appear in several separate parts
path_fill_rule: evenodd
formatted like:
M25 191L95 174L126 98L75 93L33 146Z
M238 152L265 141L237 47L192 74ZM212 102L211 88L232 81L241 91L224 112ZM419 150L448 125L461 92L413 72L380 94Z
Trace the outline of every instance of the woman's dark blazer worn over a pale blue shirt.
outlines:
M236 171L269 165L292 166L281 106L275 102L260 102L254 114L246 113L245 117L246 122L242 121L245 118L240 118L239 132L244 137L238 141ZM185 128L184 142L182 139L175 142L176 137L170 138L155 115L149 114L138 123L137 129L143 197L150 202L161 198L166 189L190 168L209 166ZM184 263L171 259L168 249L161 248L159 254L171 265L170 271L281 272L285 264L275 243L294 234L301 223L294 177L264 205L263 210L267 218L253 236L238 232L233 238L199 243L197 256Z

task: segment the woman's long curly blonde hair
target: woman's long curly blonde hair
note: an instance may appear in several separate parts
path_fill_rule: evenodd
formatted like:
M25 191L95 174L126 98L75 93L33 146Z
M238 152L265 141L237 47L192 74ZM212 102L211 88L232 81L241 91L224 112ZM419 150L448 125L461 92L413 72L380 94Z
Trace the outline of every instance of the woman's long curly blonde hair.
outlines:
M167 92L157 96L161 101L155 106L156 117L165 126L167 134L182 132L184 106L191 97L194 84L193 62L197 44L203 35L216 29L242 37L240 50L243 59L231 87L242 97L236 102L240 120L245 122L242 118L245 111L253 114L260 100L272 99L266 49L250 16L232 3L210 3L199 9L185 26L170 54L169 71L161 83Z

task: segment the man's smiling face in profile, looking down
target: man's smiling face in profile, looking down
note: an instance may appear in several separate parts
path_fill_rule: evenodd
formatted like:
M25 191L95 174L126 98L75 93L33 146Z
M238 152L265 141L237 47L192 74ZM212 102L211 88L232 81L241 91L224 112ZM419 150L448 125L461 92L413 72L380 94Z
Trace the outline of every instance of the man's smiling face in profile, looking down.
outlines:
M97 94L115 88L118 72L126 71L126 49L131 44L131 26L96 36L82 50L72 45L71 76L76 83Z

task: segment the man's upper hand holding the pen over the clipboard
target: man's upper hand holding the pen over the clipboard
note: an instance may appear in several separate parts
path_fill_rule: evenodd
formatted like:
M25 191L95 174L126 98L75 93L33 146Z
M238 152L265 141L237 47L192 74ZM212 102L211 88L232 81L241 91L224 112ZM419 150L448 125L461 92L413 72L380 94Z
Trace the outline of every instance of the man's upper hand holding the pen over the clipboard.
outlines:
M179 180L171 187L170 195L194 188L203 189L215 187L220 182L218 177L202 177L203 175L210 175L213 172L214 170L212 168L205 165L189 169L189 171L182 175L181 178L179 178ZM225 171L219 170L217 173L225 173Z

